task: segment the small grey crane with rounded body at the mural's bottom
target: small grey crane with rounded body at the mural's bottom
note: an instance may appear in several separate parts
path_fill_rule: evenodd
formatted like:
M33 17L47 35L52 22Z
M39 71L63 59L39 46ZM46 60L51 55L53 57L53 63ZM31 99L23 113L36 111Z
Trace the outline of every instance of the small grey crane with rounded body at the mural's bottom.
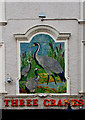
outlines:
M32 78L30 79L29 81L26 82L25 84L25 90L28 92L34 92L35 89L38 87L38 81L40 79L40 76L38 75L37 71L39 69L38 68L35 68L35 75L36 75L36 78Z

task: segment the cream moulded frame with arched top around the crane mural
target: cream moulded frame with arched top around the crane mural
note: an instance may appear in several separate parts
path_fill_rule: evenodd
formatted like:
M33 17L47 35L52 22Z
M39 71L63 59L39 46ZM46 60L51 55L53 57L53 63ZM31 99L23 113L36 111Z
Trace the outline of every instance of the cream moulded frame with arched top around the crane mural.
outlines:
M69 38L71 36L71 33L61 33L57 31L55 28L48 26L48 25L37 25L29 30L27 30L26 33L21 34L14 34L15 39L17 40L17 65L18 65L18 78L17 78L17 84L16 84L16 94L19 94L19 79L20 79L20 42L30 42L32 37L36 34L44 33L49 34L52 38L54 38L56 41L64 41L65 42L65 77L67 79L67 93L70 94L70 78L69 78ZM39 93L40 94L40 93ZM46 93L45 93L46 94ZM50 93L51 94L51 93ZM63 95L64 95L63 94ZM57 94L59 95L59 94ZM61 95L61 94L60 94Z

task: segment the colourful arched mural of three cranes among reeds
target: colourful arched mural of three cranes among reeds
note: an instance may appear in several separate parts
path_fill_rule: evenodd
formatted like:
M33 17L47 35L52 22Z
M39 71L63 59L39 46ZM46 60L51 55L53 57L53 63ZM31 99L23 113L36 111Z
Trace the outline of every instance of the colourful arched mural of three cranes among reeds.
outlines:
M20 93L66 93L65 43L38 34L20 43Z

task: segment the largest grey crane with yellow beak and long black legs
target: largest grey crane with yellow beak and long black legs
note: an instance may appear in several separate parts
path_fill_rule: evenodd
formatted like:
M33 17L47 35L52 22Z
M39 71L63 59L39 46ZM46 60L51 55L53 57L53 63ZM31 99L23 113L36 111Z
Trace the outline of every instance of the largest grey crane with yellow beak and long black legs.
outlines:
M55 77L52 75L52 72L55 75L58 75L61 81L65 81L66 79L64 77L64 72L59 62L52 57L48 57L46 55L43 55L43 56L38 55L38 52L40 50L40 43L36 42L30 47L33 47L33 46L38 47L34 53L34 59L36 63L47 72L47 75L48 75L47 84L49 82L49 74L53 77L56 84L56 80L55 80Z

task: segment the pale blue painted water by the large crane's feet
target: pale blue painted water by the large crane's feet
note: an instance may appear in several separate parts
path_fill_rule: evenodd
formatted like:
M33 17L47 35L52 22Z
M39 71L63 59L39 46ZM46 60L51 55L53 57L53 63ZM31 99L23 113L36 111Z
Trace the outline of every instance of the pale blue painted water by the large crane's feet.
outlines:
M39 85L39 86L49 87L49 88L55 88L56 90L58 90L58 87L59 87L59 86L64 86L65 83L57 83L57 84L55 84L54 82L50 82L50 83L48 83L48 85L47 85L47 83L38 84L38 85Z

